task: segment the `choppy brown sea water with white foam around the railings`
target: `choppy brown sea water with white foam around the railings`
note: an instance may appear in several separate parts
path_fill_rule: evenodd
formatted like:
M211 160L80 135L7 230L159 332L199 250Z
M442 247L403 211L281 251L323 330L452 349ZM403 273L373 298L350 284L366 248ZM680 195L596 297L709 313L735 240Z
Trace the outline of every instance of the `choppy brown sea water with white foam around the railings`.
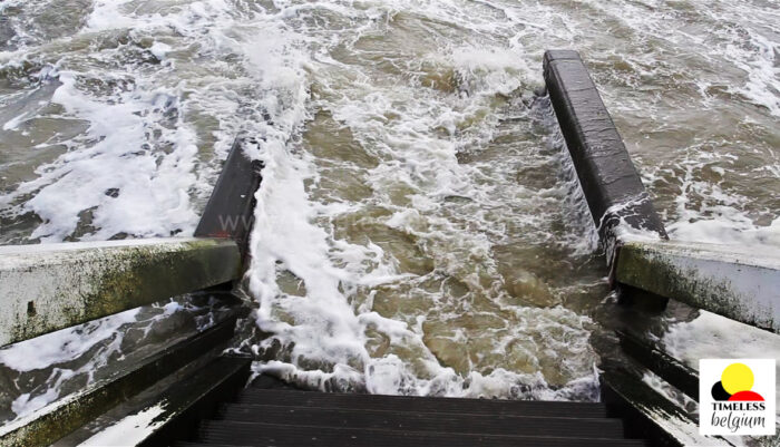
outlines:
M3 0L0 243L188 235L254 136L259 370L595 399L608 288L542 55L581 51L673 239L776 250L778 23L770 0ZM0 416L204 312L49 336L70 348L32 372L32 343L0 351Z

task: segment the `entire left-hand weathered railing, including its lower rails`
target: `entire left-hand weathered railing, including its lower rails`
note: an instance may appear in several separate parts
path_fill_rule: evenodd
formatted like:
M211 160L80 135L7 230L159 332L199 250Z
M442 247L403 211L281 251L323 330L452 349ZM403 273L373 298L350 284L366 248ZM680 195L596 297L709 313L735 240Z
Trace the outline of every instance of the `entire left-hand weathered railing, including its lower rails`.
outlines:
M236 304L206 330L0 427L0 445L49 445L167 376L186 377L207 361L215 361L208 380L193 378L185 392L166 396L157 419L182 417L195 400L245 379L248 359L214 360L242 313L231 290L243 275L261 179L259 163L243 155L244 144L252 142L233 145L195 237L0 247L0 347L195 291ZM125 440L154 445L158 435L136 433Z

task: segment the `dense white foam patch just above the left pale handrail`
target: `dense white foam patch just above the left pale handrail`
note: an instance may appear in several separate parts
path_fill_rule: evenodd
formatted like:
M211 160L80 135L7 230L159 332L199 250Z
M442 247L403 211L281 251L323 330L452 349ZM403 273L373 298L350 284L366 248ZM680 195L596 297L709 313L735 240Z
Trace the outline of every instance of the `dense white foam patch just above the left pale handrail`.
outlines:
M187 195L196 179L192 173L197 152L194 132L183 123L176 123L174 129L154 126L160 144L173 146L162 159L152 150L127 145L137 142L143 147L145 133L155 132L152 123L175 109L176 95L133 89L117 103L106 104L79 91L75 74L60 71L58 79L62 86L52 103L61 105L71 119L88 122L81 142L94 144L68 152L43 167L37 179L3 197L10 202L37 192L20 210L43 220L31 237L62 241L74 233L85 210L95 210L91 226L96 229L85 240L106 240L120 231L138 236L191 233L197 217Z

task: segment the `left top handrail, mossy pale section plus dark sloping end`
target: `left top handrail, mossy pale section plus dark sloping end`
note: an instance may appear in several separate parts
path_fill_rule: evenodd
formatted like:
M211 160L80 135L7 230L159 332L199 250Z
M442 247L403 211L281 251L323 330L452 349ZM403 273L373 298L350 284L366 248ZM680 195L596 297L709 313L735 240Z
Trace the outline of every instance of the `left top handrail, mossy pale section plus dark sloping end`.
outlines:
M237 280L261 182L236 138L198 237L0 246L0 347Z

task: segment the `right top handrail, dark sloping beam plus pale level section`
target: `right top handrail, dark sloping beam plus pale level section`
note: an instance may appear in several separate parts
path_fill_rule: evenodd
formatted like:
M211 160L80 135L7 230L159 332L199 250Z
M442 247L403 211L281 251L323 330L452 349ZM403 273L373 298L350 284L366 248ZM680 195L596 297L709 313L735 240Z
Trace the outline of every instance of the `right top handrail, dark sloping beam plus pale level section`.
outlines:
M545 80L611 279L780 332L780 253L671 242L576 51L547 51Z

